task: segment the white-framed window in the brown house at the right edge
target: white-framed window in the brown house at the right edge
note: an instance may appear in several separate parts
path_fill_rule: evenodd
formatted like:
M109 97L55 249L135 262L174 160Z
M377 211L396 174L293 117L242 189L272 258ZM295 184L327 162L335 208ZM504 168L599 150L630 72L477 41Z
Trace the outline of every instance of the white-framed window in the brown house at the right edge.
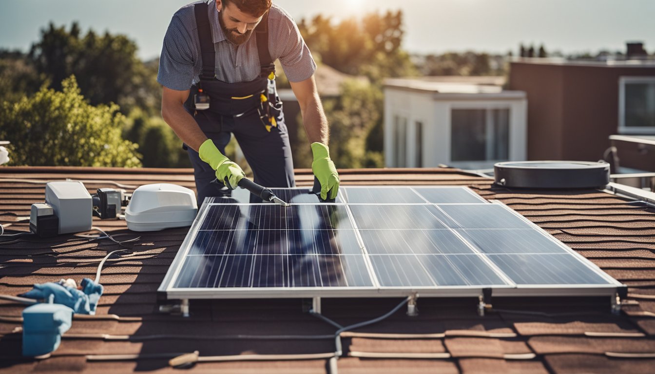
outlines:
M619 132L655 134L655 77L620 78Z

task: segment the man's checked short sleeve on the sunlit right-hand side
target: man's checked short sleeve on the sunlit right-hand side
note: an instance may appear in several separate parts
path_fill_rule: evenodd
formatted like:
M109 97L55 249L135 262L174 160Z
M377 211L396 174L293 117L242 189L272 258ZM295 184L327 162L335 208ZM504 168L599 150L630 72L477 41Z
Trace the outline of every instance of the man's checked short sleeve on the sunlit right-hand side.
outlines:
M316 62L291 16L281 9L280 12L280 26L271 35L274 37L269 38L269 48L277 49L277 57L290 82L305 81L314 75Z

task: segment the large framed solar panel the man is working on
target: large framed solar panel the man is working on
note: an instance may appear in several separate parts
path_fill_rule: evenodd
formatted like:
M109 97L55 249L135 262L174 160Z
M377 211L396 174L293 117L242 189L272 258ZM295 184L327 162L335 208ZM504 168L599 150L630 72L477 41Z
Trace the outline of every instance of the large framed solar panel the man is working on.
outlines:
M170 298L613 294L619 282L465 187L343 187L332 204L209 198L160 286ZM229 204L223 204L229 202Z

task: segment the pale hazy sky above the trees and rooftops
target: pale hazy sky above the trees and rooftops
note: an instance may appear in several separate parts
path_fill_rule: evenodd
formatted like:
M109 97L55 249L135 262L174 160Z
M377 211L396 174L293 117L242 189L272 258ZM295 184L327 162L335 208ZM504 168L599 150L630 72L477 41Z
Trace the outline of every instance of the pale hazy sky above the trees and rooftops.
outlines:
M159 56L170 18L192 0L0 0L0 48L27 51L40 29L79 22L84 33L108 30L136 41L143 60ZM403 48L517 53L519 43L546 50L625 50L643 41L655 52L655 0L274 0L295 20L335 20L402 10Z

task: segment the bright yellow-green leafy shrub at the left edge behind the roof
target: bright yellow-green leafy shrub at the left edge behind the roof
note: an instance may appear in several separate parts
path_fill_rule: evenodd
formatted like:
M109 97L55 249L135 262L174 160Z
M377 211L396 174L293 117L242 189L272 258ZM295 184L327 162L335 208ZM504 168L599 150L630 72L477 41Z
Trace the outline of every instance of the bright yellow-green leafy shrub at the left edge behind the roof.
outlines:
M10 164L29 166L141 166L137 145L121 138L119 107L90 105L75 77L62 92L41 88L0 106L0 139L9 140Z

